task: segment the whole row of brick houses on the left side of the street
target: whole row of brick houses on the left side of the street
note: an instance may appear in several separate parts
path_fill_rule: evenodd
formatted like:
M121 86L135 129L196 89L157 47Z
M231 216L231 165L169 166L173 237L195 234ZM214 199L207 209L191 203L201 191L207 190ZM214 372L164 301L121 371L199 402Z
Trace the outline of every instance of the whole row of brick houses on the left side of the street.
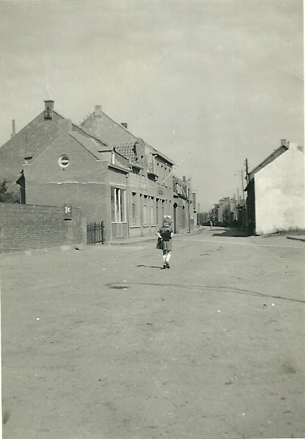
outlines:
M21 204L80 208L88 223L103 222L105 240L155 235L164 215L175 233L191 231L196 212L191 179L174 162L116 123L96 105L80 125L44 110L0 148L0 178L20 191ZM17 182L17 184L16 184Z

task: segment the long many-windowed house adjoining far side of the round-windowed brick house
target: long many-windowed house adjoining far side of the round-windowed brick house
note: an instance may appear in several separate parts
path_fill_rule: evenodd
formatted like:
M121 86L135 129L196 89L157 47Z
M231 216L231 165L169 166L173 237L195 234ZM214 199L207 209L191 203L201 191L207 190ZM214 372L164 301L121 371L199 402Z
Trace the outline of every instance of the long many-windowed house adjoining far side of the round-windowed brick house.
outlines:
M173 161L129 132L127 123L112 120L100 105L81 126L130 160L128 236L155 235L164 215L173 215Z

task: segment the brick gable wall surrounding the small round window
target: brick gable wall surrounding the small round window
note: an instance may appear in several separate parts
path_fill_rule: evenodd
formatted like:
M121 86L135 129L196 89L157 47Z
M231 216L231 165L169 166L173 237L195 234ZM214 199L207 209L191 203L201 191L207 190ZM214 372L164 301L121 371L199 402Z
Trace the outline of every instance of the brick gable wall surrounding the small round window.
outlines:
M65 169L58 165L63 154L70 161ZM60 133L30 164L24 165L26 203L71 204L82 209L88 222L105 221L107 163L97 161L69 133Z

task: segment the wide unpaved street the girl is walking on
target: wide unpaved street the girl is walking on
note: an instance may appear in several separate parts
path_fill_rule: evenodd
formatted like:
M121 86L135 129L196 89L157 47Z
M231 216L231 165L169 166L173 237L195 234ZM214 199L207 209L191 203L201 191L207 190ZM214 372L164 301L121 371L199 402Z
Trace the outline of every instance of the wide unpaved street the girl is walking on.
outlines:
M301 438L305 243L1 256L3 439Z

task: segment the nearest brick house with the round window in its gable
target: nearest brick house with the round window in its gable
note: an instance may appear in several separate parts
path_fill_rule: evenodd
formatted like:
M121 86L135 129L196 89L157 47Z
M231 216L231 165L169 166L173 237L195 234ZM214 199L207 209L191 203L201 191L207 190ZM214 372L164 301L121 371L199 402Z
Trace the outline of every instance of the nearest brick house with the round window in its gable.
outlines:
M104 223L105 236L128 236L129 160L96 138L73 131L70 120L24 163L26 204L80 208L87 222Z

